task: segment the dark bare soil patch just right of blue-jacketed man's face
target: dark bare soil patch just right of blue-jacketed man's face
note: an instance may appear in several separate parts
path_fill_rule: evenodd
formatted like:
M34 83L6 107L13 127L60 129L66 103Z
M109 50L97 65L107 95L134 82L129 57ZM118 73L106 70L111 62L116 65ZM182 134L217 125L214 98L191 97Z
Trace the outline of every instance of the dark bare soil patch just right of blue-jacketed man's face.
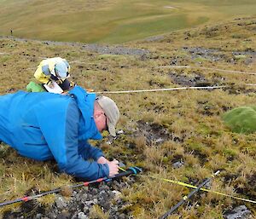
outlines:
M183 142L183 137L170 133L163 125L154 123L150 124L143 120L139 120L137 122L137 130L133 135L135 137L143 136L147 145L159 145L165 141Z

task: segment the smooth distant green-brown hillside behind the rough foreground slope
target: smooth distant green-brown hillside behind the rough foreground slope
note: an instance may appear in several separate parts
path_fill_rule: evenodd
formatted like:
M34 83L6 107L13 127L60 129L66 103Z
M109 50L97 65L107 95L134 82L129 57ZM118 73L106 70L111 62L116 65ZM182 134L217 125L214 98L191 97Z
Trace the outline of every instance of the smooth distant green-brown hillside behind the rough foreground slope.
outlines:
M254 0L0 1L0 34L84 43L123 43L253 15Z

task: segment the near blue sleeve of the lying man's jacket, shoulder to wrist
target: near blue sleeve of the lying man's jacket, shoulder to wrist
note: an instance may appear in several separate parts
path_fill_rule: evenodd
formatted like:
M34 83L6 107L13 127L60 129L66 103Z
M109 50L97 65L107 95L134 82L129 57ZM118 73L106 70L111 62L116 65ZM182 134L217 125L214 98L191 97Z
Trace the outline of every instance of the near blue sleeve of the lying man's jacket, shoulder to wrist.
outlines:
M55 103L57 104L57 103ZM67 174L95 180L108 176L108 164L97 164L84 160L79 154L79 109L75 101L71 101L66 111L51 110L47 116L39 115L40 128L45 141L59 169ZM90 151L90 150L89 150ZM98 156L100 153L90 153Z

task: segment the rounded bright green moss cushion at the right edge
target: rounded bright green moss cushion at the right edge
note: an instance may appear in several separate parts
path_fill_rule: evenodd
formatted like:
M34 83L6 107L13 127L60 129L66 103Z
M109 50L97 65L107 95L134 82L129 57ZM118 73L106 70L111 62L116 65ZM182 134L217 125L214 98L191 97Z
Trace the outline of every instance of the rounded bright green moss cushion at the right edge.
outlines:
M238 107L225 112L223 119L224 124L234 132L253 133L256 131L256 106Z

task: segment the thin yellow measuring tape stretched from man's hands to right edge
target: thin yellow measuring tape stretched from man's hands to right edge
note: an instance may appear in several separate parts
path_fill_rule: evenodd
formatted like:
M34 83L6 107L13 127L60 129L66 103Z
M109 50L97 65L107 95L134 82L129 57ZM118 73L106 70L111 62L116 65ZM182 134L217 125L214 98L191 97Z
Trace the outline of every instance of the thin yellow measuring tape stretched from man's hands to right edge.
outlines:
M121 168L121 167L119 167L119 170L125 171L125 169L123 169L123 168ZM137 175L137 176L149 177L149 178L153 178L153 179L157 179L157 180L162 180L162 181L164 181L164 182L171 182L171 183L174 183L174 184L183 186L183 187L196 188L195 186L190 185L190 184L185 183L185 182L179 182L179 181L168 180L168 179L160 178L160 177L156 177L156 176L144 176L144 175ZM241 201L246 201L246 202L250 202L250 203L256 204L256 201L254 201L254 200L242 199L242 198L240 198L240 197L236 197L236 196L233 196L233 195L230 195L230 194L225 194L225 193L220 193L220 192L217 192L217 191L212 191L212 190L207 189L207 188L201 187L200 190L201 190L201 191L204 191L204 192L207 192L207 193L215 193L215 194L219 194L219 195L222 195L222 196L225 196L225 197L229 197L229 198L232 198L232 199L238 199L238 200L241 200Z

